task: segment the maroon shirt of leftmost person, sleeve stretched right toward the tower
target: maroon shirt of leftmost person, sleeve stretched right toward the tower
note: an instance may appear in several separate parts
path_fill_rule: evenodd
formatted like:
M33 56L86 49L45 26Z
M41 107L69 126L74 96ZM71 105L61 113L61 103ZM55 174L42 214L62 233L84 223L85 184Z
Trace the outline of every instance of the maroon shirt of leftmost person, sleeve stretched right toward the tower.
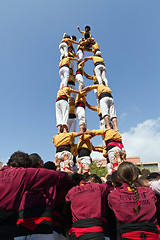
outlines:
M65 172L4 166L0 170L0 209L18 210L24 192L63 184L66 179L68 175Z

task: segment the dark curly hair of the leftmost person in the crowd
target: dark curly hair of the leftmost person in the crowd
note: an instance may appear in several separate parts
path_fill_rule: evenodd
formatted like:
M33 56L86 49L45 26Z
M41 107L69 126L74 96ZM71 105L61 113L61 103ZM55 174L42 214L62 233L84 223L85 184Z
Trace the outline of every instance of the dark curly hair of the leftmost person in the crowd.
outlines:
M10 167L28 168L28 167L31 167L32 162L29 159L29 155L27 153L17 151L11 155L10 159L7 162L7 165Z

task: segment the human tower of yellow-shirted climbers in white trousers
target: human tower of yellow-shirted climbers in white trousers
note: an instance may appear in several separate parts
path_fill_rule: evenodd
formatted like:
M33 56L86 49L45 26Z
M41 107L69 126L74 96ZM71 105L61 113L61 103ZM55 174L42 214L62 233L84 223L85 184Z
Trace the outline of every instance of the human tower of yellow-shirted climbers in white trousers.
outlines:
M106 66L100 47L90 33L91 27L85 26L85 31L81 31L79 26L77 28L83 34L79 42L76 42L75 36L64 34L59 45L61 84L56 100L58 134L53 137L56 147L55 162L57 169L61 171L84 174L91 169L91 152L99 151L107 158L108 172L112 172L125 160L126 153L117 127L114 100L106 78ZM77 44L77 53L73 44ZM84 57L85 51L90 52L91 56ZM93 61L93 76L84 71L88 60ZM74 73L75 62L77 67ZM84 76L93 80L93 85L85 87ZM78 90L75 83L78 84ZM92 90L95 92L97 106L87 102L87 93ZM87 129L86 107L97 112L99 130ZM77 119L79 132L76 132ZM91 138L96 135L102 135L104 146L92 145ZM79 137L78 144L75 144L76 137Z

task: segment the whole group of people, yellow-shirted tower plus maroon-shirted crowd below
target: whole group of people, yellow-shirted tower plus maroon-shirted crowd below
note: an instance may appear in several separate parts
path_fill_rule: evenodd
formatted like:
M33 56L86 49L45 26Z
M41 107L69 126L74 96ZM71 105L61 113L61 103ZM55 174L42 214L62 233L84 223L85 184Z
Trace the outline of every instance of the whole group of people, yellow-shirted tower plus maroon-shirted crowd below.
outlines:
M79 42L64 34L59 45L55 162L44 163L37 153L18 151L2 167L0 240L160 239L160 174L140 171L126 161L99 45L90 26L85 31L77 28L83 34ZM78 45L77 53L73 44ZM93 56L84 58L84 51ZM83 69L88 60L95 66L93 76ZM85 87L83 76L94 84ZM86 100L92 89L97 106ZM86 106L97 111L100 129L87 129ZM96 135L102 135L104 146L92 145ZM110 167L105 177L91 173L92 151L107 158Z

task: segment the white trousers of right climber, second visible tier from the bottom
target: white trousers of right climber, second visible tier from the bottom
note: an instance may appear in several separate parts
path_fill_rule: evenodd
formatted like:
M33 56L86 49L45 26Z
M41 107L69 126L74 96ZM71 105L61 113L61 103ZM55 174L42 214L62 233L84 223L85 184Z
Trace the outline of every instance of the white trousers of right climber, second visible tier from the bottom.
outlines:
M116 109L112 97L103 97L99 103L102 112L102 117L107 115L110 117L111 120L112 118L116 117Z

